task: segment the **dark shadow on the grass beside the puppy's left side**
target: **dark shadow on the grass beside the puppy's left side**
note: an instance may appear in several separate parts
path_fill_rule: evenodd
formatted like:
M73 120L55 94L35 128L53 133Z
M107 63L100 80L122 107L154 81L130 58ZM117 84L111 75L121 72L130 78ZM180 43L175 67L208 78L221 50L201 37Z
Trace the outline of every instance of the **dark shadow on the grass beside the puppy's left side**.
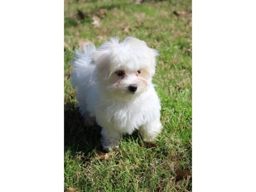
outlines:
M81 151L87 155L94 149L102 150L100 131L101 128L96 123L87 127L74 102L65 103L64 151L71 150L73 154Z

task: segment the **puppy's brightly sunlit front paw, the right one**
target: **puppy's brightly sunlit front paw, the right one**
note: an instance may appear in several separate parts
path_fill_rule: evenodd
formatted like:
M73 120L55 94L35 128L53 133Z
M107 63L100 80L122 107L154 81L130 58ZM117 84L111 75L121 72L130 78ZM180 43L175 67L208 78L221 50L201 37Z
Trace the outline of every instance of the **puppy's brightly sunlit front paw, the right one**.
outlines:
M143 140L153 141L162 130L162 124L159 119L147 122L140 127L140 134Z

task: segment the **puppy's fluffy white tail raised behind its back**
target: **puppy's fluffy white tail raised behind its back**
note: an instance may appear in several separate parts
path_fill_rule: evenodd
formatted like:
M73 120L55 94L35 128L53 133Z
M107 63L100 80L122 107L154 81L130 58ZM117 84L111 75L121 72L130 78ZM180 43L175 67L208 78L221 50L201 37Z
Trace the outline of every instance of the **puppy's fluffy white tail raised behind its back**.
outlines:
M86 87L92 78L95 65L91 64L93 51L96 50L94 44L84 45L84 49L74 52L74 61L72 62L74 70L72 73L72 84L74 87Z

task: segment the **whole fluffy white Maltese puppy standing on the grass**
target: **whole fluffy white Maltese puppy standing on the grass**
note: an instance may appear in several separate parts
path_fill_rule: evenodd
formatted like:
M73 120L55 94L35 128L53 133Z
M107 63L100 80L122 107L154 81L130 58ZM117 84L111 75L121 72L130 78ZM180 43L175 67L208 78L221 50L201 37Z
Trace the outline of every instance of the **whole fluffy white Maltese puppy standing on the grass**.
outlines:
M160 100L152 84L157 55L133 37L76 50L72 83L79 111L87 122L95 118L102 127L104 149L118 147L123 134L137 129L149 141L161 132Z

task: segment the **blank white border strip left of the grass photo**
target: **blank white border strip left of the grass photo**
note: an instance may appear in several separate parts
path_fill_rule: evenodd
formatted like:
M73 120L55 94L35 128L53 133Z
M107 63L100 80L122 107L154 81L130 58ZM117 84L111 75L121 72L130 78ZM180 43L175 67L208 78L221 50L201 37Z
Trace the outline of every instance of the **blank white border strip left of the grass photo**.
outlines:
M64 1L0 3L1 191L64 188Z

